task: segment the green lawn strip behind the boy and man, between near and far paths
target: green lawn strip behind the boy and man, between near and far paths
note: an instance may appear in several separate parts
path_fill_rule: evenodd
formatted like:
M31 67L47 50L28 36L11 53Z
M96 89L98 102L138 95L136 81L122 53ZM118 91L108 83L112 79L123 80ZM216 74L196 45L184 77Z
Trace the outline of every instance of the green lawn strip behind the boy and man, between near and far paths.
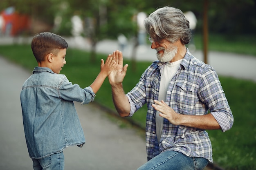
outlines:
M37 66L29 45L0 46L0 55L16 62L32 71ZM82 88L90 86L100 71L100 59L106 60L107 55L97 54L97 62L90 63L89 53L81 50L68 49L66 61L61 74ZM139 81L141 74L150 62L137 62L137 70L133 71L131 62L124 79L124 90L130 91ZM213 160L225 170L254 170L256 169L256 83L231 77L220 76L220 82L225 91L229 105L234 115L234 125L231 130L208 130L213 146ZM108 79L97 93L95 102L115 110L112 103L111 88ZM126 120L135 121L142 127L146 122L146 106L139 109L133 117Z

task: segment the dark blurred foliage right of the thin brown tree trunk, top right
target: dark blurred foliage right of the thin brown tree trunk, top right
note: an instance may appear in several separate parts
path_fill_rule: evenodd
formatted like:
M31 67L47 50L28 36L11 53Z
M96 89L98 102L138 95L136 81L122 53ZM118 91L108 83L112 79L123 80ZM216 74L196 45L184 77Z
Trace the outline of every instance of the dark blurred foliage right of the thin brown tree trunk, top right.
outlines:
M255 33L256 0L216 0L209 4L209 29L227 35ZM229 36L229 37L232 37Z

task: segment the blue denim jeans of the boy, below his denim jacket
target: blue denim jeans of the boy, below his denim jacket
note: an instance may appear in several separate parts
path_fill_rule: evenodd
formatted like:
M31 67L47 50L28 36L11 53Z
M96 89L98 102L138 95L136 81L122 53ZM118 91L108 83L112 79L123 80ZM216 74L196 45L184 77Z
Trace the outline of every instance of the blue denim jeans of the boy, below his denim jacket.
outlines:
M63 152L42 159L32 159L34 170L64 170Z

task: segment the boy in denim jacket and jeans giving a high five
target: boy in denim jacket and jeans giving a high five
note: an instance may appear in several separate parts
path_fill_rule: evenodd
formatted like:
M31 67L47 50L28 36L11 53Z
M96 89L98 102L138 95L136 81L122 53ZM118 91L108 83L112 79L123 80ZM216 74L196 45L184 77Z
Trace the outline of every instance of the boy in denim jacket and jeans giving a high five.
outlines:
M20 93L23 125L29 156L34 170L63 170L63 149L82 147L83 129L73 101L88 104L104 79L115 69L113 55L106 63L101 59L101 71L86 88L68 81L59 74L65 61L67 42L54 33L40 33L31 42L38 66L23 84Z

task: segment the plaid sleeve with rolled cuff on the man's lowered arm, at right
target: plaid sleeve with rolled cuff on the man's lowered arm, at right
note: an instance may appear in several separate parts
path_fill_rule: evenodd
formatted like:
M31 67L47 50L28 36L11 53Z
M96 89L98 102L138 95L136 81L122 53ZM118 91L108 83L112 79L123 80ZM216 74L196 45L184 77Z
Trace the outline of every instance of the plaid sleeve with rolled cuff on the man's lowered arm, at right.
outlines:
M198 94L200 100L209 107L211 114L220 125L222 132L229 130L233 126L234 117L218 75L213 69L209 69L202 75Z

